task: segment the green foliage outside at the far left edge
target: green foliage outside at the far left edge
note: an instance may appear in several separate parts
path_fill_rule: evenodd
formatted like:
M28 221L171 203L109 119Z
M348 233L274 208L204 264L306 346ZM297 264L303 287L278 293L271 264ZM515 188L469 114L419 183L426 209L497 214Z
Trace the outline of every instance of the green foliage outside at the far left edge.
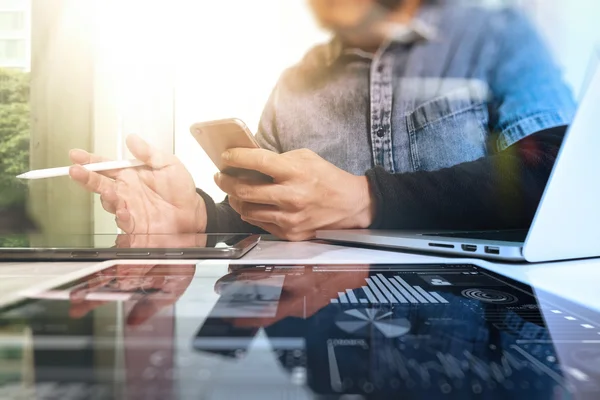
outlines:
M15 176L29 167L29 74L0 69L0 207L25 201Z

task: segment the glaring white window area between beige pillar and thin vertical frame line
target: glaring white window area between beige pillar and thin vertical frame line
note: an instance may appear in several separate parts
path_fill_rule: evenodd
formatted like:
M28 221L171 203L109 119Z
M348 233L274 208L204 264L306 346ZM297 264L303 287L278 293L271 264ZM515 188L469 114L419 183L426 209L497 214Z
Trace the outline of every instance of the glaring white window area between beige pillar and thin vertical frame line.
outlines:
M89 44L94 51L93 143L88 150L111 159L131 158L125 137L136 133L173 152L173 12L158 1L77 1L94 16ZM114 217L104 211L99 196L93 199L95 232L116 232Z

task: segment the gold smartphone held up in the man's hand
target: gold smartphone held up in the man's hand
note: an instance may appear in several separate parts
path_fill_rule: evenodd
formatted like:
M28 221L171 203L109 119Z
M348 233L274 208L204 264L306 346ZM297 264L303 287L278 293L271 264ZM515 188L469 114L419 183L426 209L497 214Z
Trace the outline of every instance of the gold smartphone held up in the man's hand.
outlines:
M272 179L258 171L227 167L223 162L221 154L226 150L233 148L260 148L250 129L241 120L229 118L198 122L190 127L190 132L219 171L235 177L260 180Z

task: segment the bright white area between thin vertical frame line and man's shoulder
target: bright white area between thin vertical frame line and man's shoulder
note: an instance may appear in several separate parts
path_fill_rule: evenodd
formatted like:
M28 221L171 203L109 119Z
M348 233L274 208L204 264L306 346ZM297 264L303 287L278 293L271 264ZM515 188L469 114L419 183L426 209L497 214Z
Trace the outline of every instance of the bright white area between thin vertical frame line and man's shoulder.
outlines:
M170 3L173 4L173 3ZM194 122L240 118L256 131L281 72L325 41L306 0L185 1L177 4L175 154L216 199L217 171L189 134Z

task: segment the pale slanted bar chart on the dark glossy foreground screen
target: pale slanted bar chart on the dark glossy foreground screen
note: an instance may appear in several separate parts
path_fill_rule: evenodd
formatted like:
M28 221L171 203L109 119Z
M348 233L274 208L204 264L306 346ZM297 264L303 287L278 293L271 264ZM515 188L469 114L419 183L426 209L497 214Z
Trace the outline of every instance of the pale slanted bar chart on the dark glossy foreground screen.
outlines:
M346 289L332 304L448 304L439 293L428 292L421 286L413 286L399 276L387 278L383 274L365 278L367 286Z

